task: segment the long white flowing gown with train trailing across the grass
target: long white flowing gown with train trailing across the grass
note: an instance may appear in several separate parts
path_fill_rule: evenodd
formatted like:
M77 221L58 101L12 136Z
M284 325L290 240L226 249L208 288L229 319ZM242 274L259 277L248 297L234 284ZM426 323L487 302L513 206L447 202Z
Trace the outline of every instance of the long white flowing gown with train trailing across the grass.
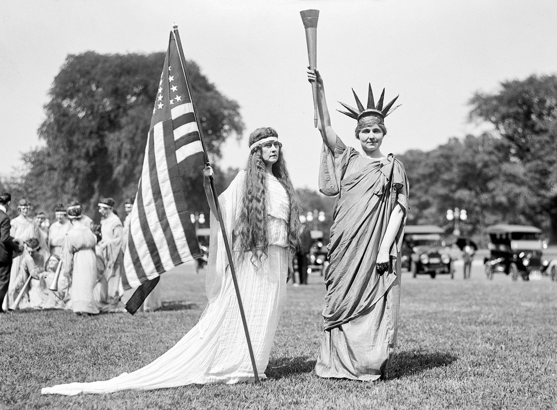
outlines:
M240 171L219 197L223 221L231 233L240 215L245 172ZM257 373L266 378L269 354L286 296L289 257L287 221L289 199L275 177L268 175L268 256L254 267L250 255L235 263L240 294L255 354ZM230 242L232 243L232 241ZM253 370L240 310L224 250L219 223L211 215L211 245L207 267L209 303L201 319L167 353L153 363L102 382L70 383L43 388L42 394L108 393L150 390L198 383L237 383L252 380Z

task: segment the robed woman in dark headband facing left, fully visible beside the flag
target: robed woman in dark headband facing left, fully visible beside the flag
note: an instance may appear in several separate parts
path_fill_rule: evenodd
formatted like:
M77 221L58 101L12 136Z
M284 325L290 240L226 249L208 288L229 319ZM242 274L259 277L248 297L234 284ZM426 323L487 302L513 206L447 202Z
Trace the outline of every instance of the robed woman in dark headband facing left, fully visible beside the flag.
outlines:
M106 263L105 277L108 282L108 299L111 303L120 300L118 288L123 268L124 239L124 227L120 218L113 212L114 204L112 198L102 198L99 201L99 213L102 215L99 246Z

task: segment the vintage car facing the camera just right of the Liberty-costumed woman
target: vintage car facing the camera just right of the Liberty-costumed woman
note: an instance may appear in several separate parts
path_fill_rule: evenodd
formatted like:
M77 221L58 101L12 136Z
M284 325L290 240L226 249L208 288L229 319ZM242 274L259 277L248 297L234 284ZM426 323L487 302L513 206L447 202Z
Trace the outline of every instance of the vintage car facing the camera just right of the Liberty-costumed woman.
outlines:
M436 225L407 225L404 228L402 246L403 266L412 271L412 276L450 274L455 277L451 250L443 240L444 231Z

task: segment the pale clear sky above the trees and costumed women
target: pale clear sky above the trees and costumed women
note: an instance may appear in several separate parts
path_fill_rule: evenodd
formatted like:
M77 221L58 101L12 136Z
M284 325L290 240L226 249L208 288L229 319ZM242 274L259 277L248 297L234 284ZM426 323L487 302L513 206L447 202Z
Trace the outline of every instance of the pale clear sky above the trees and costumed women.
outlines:
M247 136L272 126L296 187L317 189L321 138L313 124L299 12L319 9L317 67L331 123L359 148L355 120L335 111L385 87L402 104L385 120L384 154L431 150L479 133L475 91L557 71L557 2L531 0L0 0L0 175L43 144L52 80L69 54L164 51L178 24L186 58L236 100L246 130L224 145L221 166L242 167ZM161 67L162 69L162 67ZM364 103L365 104L365 103Z

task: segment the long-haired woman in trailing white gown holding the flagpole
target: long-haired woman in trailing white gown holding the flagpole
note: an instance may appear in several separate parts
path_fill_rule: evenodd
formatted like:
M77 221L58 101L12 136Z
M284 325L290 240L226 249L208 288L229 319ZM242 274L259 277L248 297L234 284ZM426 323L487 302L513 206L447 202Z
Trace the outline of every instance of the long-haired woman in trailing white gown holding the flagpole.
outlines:
M219 196L222 219L234 254L240 294L255 355L265 378L272 341L299 245L301 208L286 170L281 144L272 128L250 134L250 158ZM153 363L102 382L43 388L42 394L108 393L198 383L237 383L254 378L240 310L216 218L209 178L204 185L211 207L207 266L209 304L201 319L173 348Z

